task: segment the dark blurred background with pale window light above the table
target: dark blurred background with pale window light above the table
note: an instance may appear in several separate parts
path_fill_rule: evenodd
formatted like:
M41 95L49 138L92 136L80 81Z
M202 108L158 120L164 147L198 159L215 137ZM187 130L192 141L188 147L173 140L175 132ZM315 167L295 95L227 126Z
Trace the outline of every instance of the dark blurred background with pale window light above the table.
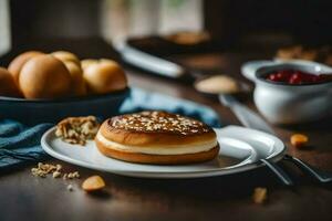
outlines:
M330 0L0 0L0 55L37 40L201 30L229 48L329 45L331 8Z

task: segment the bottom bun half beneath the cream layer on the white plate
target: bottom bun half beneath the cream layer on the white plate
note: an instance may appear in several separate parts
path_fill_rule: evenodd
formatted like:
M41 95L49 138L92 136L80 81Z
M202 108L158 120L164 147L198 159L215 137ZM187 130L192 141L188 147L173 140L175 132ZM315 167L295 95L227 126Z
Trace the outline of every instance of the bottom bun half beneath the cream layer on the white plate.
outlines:
M125 151L111 149L107 148L97 138L95 138L95 144L98 150L107 157L112 157L115 159L129 161L129 162L152 164L152 165L185 165L185 164L204 162L216 158L216 156L219 152L218 145L210 150L195 152L195 154L147 155L147 154L139 154L139 152L125 152Z

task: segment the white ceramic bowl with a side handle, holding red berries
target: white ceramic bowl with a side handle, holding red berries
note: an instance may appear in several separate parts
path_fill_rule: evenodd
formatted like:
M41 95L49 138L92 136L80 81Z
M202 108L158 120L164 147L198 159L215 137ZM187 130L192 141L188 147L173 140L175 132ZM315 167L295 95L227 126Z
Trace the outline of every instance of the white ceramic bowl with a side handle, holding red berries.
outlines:
M242 74L255 82L255 104L273 124L301 124L320 119L332 107L332 82L290 85L268 82L262 75L278 70L300 70L312 74L331 74L332 67L301 60L253 61L245 63Z

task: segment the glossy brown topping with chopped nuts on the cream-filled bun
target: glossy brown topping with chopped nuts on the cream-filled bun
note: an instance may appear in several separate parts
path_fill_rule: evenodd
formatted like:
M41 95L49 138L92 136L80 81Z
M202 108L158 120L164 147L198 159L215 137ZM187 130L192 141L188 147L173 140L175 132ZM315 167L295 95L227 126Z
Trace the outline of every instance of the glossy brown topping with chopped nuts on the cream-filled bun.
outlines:
M173 133L183 135L203 134L210 131L206 124L166 112L141 112L113 117L108 126L114 129L146 133Z

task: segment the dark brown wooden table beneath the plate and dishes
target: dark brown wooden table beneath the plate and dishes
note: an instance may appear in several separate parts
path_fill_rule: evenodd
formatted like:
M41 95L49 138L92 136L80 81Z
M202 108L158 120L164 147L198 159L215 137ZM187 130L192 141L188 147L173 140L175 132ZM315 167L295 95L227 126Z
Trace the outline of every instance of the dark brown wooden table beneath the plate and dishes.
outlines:
M97 44L97 43L96 43ZM37 46L38 49L38 46ZM66 48L65 48L66 49ZM71 49L71 48L69 48ZM53 49L52 49L53 50ZM72 51L87 56L89 51ZM92 56L107 56L102 48L92 49ZM225 73L240 77L240 64L250 59L264 59L262 53L222 53ZM229 109L217 99L206 97L180 82L127 70L129 84L152 92L184 97L215 108L226 124L239 125ZM255 108L250 98L243 101ZM273 127L289 147L288 152L317 168L332 172L332 120L298 127ZM293 148L289 137L294 131L310 137L310 147ZM62 179L33 177L28 165L0 173L0 220L332 220L331 185L319 185L288 162L280 162L297 181L293 189L280 186L266 168L246 173L188 180L137 179L94 171L53 158L65 170L79 170L82 178ZM101 175L107 187L102 194L81 190L82 180ZM73 186L73 191L66 189ZM268 201L255 204L255 187L268 188Z

